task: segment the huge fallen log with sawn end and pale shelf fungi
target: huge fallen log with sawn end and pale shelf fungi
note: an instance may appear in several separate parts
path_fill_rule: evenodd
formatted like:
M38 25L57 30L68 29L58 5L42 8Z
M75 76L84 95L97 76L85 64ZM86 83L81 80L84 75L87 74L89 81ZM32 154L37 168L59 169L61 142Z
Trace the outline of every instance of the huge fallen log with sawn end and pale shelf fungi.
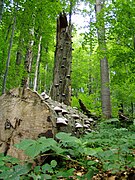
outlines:
M54 137L59 131L80 136L90 132L94 120L75 108L30 89L13 89L0 96L0 152L26 159L14 147L22 139Z

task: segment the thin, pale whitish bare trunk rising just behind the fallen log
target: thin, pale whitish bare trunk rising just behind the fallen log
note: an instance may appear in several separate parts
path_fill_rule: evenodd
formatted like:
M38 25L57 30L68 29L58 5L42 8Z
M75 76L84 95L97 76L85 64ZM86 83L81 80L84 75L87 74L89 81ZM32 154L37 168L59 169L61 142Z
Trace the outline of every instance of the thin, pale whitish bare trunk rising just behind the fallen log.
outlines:
M36 70L35 70L35 78L34 78L34 91L37 91L37 80L38 80L38 71L39 71L39 62L40 62L40 53L41 53L41 40L42 36L40 36L39 44L38 44L38 55L36 62Z

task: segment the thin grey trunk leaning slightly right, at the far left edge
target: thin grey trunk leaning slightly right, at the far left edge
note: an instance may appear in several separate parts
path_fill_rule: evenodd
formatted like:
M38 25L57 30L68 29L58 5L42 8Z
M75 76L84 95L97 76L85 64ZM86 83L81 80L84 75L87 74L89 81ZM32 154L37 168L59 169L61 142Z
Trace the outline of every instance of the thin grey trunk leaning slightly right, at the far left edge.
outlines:
M8 57L7 57L7 63L6 63L6 70L5 70L4 79L3 79L2 94L4 94L5 91L6 91L6 81L7 81L7 76L8 76L9 64L10 64L10 56L11 56L11 49L12 49L12 44L13 44L15 24L16 24L16 17L14 17L13 25L12 25L11 38L10 38L9 48L8 48Z

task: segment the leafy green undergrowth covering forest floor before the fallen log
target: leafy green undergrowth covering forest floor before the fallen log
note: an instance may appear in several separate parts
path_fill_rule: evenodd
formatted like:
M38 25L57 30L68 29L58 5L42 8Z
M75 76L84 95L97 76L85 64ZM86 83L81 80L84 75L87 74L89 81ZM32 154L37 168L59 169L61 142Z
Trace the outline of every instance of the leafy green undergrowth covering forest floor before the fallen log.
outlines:
M94 174L117 173L135 167L135 133L108 122L81 138L60 132L52 138L25 139L16 148L29 157L21 162L0 156L0 179L91 179Z

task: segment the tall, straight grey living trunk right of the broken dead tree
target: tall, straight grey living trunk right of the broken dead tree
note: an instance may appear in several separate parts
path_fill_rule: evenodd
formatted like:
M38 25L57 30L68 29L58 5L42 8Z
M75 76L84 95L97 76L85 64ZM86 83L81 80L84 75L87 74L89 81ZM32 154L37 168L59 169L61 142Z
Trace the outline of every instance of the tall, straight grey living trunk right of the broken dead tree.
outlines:
M101 10L103 5L104 5L104 0L96 0L98 43L99 43L99 50L102 56L102 58L100 59L102 114L104 118L108 119L111 117L111 102L110 102L108 60L106 58L104 17L103 15L101 16Z

